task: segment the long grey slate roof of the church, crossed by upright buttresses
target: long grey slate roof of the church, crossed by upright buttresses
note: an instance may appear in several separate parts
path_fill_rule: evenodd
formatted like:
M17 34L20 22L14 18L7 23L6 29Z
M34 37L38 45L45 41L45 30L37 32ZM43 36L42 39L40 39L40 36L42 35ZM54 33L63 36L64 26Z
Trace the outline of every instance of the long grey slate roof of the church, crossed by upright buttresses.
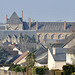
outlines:
M25 29L28 29L29 22L25 24ZM66 22L66 30L64 30L64 22L38 22L38 32L71 32L75 28L74 24L75 22ZM36 22L31 23L30 30L36 30Z

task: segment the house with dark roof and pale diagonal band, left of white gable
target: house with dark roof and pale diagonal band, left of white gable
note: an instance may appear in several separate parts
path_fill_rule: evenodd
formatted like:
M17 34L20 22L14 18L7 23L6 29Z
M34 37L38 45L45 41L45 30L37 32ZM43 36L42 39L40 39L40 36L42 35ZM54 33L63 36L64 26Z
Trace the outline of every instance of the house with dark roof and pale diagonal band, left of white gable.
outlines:
M48 49L45 47L40 47L35 52L35 66L48 66Z

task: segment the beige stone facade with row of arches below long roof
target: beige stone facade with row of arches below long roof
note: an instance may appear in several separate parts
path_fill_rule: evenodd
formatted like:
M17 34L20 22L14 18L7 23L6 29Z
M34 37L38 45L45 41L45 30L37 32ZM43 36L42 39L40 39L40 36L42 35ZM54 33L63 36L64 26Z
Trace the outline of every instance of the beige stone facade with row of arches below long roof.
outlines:
M45 43L44 40L47 40L47 39L57 39L57 40L62 40L62 39L65 39L67 38L68 36L70 36L72 33L59 33L59 32L55 32L55 33L50 33L50 32L37 32L37 39L38 41L40 41L41 43Z

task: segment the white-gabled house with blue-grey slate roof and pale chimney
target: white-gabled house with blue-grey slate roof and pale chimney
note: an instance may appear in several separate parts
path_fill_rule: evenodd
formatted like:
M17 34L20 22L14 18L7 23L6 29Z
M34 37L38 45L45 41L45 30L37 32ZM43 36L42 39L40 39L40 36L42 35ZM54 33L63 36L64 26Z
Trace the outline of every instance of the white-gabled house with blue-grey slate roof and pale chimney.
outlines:
M61 69L66 65L66 52L65 48L49 48L48 49L48 68Z

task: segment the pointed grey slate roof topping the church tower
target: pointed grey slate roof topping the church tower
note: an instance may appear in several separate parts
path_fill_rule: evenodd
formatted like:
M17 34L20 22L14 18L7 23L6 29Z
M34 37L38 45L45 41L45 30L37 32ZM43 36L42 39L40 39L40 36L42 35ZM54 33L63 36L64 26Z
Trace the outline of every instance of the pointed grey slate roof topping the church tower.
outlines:
M14 12L6 24L22 24L22 22L17 16L16 12Z

